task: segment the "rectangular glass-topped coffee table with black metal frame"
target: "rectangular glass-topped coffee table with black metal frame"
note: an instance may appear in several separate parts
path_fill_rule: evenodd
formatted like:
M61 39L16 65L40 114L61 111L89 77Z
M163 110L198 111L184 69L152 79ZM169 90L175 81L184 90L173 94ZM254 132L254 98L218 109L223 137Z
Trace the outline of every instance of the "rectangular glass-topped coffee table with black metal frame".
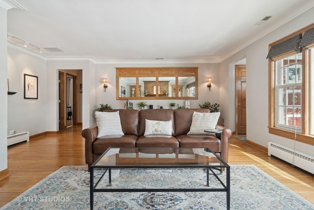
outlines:
M206 173L206 175L203 184L192 187L181 185L180 187L168 186L165 188L162 184L156 184L152 187L138 186L134 188L133 185L127 187L115 183L115 178L112 178L111 174L112 170L128 170L128 168L143 170L195 168L195 170L202 170L202 173ZM221 174L221 171L224 173ZM209 175L217 180L218 187L211 187ZM102 183L104 180L105 184ZM180 182L180 177L174 181ZM230 209L230 166L208 148L108 148L90 167L91 210L94 207L94 192L199 191L226 192L226 209Z

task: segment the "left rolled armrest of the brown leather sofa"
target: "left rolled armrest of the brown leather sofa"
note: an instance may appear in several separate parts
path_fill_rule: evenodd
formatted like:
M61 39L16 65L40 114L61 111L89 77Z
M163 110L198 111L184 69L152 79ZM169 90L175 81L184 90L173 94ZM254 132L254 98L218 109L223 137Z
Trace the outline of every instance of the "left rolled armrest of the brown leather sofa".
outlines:
M98 128L92 126L82 131L82 136L85 138L85 162L93 163L93 142L97 139Z

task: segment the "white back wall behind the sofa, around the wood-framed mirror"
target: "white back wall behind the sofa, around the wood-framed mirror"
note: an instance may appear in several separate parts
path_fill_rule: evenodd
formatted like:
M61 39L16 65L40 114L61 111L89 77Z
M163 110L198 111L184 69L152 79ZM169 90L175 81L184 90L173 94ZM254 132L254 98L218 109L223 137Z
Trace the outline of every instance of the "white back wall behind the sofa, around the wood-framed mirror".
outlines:
M219 64L218 63L193 63L193 64L97 64L95 75L95 90L96 103L95 109L99 104L108 104L113 109L123 109L126 100L116 100L116 69L115 67L198 67L198 100L190 100L190 108L199 108L199 103L203 104L205 101L211 103L219 103ZM214 81L212 83L211 91L207 87L206 80L211 77ZM101 79L106 78L108 81L108 88L104 92ZM126 98L127 99L127 98ZM131 99L131 98L129 98ZM143 98L145 100L145 98ZM142 100L130 100L133 102L133 107L136 109L136 103ZM162 106L165 109L170 109L169 103L175 102L185 105L185 100L145 100L147 104L154 106L154 109ZM223 112L223 111L222 111Z

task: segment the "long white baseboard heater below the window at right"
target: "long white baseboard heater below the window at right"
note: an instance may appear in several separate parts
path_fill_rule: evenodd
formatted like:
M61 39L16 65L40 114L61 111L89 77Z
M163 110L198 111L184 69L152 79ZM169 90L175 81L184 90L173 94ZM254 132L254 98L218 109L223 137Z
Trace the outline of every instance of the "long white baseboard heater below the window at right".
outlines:
M293 166L314 174L314 157L291 148L268 142L268 156L275 156Z

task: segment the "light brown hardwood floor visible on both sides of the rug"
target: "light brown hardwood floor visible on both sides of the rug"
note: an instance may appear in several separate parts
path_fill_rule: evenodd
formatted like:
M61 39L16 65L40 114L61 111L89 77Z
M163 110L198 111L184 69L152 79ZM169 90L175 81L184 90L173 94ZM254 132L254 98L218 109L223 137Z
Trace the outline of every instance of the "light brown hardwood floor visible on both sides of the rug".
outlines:
M229 141L229 164L254 164L314 204L314 176L292 168L235 138ZM85 165L81 126L8 148L9 177L0 180L0 207L64 165ZM86 166L87 167L87 166Z

